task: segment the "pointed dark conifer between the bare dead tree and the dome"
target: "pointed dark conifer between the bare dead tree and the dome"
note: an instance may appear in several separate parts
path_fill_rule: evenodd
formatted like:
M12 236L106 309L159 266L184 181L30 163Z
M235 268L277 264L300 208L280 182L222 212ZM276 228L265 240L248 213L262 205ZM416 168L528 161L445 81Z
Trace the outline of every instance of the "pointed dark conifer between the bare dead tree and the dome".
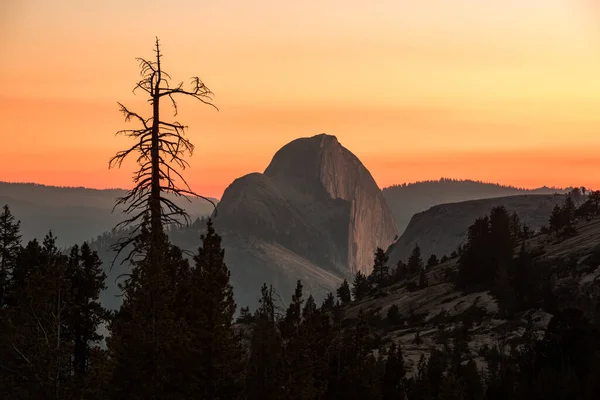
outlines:
M193 393L207 400L236 399L243 389L242 348L232 329L236 305L221 237L210 219L201 239L191 271L189 303L184 306L191 335Z

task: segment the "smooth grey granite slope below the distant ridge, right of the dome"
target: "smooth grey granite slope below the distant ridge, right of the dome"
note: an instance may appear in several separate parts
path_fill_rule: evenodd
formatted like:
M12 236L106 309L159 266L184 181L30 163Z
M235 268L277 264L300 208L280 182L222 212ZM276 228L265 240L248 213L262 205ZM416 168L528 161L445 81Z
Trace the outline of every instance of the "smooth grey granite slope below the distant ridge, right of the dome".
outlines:
M389 265L406 262L416 244L425 260L431 254L438 258L450 255L467 237L467 230L476 218L489 215L494 207L504 206L516 212L521 221L532 229L548 224L556 204L564 195L520 195L441 204L415 214L400 238L388 249Z

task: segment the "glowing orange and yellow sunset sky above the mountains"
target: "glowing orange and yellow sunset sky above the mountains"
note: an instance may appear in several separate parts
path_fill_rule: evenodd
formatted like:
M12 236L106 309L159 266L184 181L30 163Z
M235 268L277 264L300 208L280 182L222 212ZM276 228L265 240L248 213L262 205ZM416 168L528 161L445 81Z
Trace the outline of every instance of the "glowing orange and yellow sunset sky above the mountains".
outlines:
M380 187L600 188L596 0L0 1L0 180L131 187L108 169L136 127L117 102L149 115L131 89L155 36L175 82L215 93L175 118L203 195L319 133Z

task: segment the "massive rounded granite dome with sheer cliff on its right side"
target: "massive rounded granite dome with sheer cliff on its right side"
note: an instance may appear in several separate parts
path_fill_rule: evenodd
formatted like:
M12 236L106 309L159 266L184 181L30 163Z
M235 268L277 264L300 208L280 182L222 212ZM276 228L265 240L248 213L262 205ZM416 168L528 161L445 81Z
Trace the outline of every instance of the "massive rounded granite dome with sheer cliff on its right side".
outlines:
M239 289L240 279L246 286L251 276L267 283L278 277L291 287L302 279L323 294L343 277L370 272L376 247L387 248L398 234L369 171L326 134L294 140L263 174L236 179L215 226ZM250 289L256 297L260 287Z

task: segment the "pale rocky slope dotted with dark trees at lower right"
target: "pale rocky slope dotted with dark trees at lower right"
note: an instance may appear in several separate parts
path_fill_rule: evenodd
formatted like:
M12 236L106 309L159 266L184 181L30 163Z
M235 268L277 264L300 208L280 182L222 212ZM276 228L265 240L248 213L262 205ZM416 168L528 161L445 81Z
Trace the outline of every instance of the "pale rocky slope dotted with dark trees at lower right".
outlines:
M534 221L535 218L533 217ZM526 215L522 219L527 220ZM549 271L552 296L558 309L575 308L595 324L600 323L600 219L579 221L577 234L557 239L554 234L539 234L526 241L532 250L534 263ZM425 245L425 243L424 243ZM425 247L425 246L424 246ZM465 293L447 277L455 272L458 259L451 259L428 268L428 286L418 288L419 276L411 276L383 291L351 303L346 318L356 318L359 312L369 316L382 343L394 341L402 346L408 375L416 372L421 355L432 347L443 348L450 341L449 333L469 319L468 358L481 368L480 351L486 346L502 345L505 351L518 343L528 325L529 317L536 333L543 336L552 315L543 308L517 313L506 319L499 313L498 301L489 291ZM414 289L409 289L412 286ZM390 321L388 310L398 307L396 321ZM416 341L416 335L420 341Z

